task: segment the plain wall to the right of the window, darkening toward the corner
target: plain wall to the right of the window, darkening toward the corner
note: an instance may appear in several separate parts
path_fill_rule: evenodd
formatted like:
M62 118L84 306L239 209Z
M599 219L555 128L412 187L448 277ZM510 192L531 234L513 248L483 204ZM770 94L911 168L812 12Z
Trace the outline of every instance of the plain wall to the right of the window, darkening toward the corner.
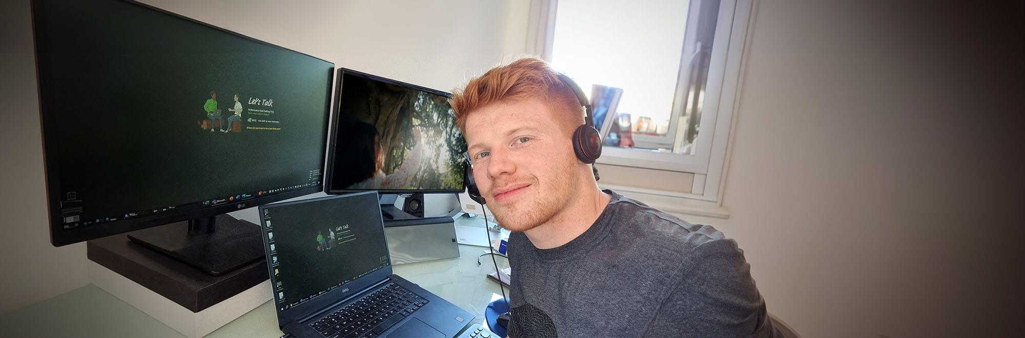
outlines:
M769 311L805 337L1021 335L1022 222L1009 215L1025 124L1006 103L1021 97L1022 31L1009 12L761 1L732 215L683 217L737 239Z

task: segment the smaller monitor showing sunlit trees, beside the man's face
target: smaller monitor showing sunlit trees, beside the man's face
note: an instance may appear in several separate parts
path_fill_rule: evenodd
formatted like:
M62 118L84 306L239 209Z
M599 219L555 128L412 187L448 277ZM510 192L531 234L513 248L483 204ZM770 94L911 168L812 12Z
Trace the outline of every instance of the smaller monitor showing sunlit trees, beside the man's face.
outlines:
M338 71L328 193L459 193L466 140L451 94Z

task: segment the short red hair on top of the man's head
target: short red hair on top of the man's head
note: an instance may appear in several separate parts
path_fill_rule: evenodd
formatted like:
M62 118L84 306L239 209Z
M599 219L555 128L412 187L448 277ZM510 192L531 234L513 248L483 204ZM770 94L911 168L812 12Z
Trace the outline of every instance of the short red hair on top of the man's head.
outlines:
M456 124L465 134L466 116L474 111L495 102L515 103L530 98L540 98L554 112L565 112L566 119L560 120L571 128L583 124L583 108L573 89L559 79L559 72L548 62L537 57L491 69L469 80L465 89L456 89L449 103L455 111Z

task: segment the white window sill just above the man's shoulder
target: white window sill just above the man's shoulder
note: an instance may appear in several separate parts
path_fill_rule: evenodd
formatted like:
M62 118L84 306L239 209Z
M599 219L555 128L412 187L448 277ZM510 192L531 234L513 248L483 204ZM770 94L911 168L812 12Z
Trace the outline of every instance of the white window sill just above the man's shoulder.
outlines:
M663 192L641 187L615 184L598 184L602 188L611 188L622 196L640 201L648 206L670 213L695 215L704 217L730 218L730 209L719 203L700 200L701 196Z

